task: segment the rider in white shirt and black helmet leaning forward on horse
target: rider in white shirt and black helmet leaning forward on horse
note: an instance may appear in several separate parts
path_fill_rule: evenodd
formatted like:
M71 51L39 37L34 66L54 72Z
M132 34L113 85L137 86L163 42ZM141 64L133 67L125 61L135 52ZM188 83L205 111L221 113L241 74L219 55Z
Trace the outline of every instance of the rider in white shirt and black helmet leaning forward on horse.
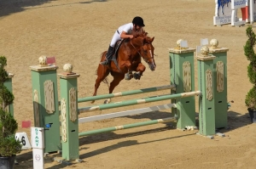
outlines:
M112 41L110 42L108 53L106 54L106 59L102 61L101 65L108 65L113 56L113 46L116 42L125 38L132 38L131 31L140 31L141 28L145 26L143 23L143 18L137 16L132 20L132 23L121 25L117 31L113 34Z

